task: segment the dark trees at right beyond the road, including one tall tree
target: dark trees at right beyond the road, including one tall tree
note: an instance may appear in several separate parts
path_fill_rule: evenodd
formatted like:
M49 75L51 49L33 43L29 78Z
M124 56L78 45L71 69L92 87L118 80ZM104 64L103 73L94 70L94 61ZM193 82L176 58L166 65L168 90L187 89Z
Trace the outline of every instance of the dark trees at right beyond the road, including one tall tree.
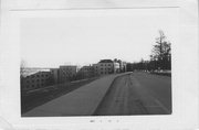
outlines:
M171 43L167 40L164 31L159 31L156 44L153 46L149 61L133 63L132 71L170 71L171 69ZM127 66L129 68L129 66Z

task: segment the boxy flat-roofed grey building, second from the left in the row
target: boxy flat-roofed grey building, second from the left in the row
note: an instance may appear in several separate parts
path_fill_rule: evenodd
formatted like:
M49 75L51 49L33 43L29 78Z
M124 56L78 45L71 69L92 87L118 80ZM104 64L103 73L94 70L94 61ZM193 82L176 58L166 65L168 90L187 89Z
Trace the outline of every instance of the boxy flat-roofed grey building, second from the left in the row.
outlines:
M59 68L59 83L66 83L70 80L73 80L73 78L77 74L77 66L75 65L65 65L65 66L60 66Z

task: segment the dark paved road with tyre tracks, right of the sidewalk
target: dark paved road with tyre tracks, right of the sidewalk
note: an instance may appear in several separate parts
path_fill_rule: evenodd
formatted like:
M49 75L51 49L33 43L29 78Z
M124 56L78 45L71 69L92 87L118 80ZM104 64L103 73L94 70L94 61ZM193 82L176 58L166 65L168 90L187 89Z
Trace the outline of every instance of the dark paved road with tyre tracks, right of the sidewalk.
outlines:
M171 78L147 73L117 77L96 116L171 113Z

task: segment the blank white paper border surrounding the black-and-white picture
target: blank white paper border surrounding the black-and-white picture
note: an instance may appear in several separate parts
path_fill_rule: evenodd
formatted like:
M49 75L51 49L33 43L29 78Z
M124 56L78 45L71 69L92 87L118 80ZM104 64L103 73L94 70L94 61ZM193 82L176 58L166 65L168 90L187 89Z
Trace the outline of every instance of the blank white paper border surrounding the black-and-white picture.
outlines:
M20 2L4 6L1 17L0 53L0 127L2 129L196 129L198 127L198 9L196 1L154 2L117 7L73 3L66 9L60 2ZM157 3L157 4L156 4ZM97 3L98 4L98 3ZM142 6L144 4L144 6ZM15 6L15 7L14 7ZM49 7L48 7L49 6ZM8 8L9 7L9 8ZM83 7L83 8L82 8ZM94 7L93 10L92 7ZM103 9L102 9L103 8ZM108 9L107 9L108 8ZM119 8L119 9L117 9ZM56 10L57 9L57 10ZM69 10L70 9L70 10ZM76 10L75 10L76 9ZM98 10L97 10L98 9ZM107 10L107 11L106 11ZM20 113L20 24L21 20L82 15L126 15L146 10L171 10L176 13L172 44L172 113L114 117L40 117L22 118ZM137 11L137 12L136 12ZM191 57L191 58L190 58ZM185 62L188 61L188 62ZM190 67L191 66L191 67Z

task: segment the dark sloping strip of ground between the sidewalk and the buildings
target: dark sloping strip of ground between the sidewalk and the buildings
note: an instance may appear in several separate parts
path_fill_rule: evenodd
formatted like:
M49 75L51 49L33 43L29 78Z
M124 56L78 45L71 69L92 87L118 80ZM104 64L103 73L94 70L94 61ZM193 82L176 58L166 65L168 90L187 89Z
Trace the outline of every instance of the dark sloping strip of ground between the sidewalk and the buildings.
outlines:
M51 101L62 95L66 95L67 93L71 93L95 79L96 78L75 83L66 83L62 85L54 85L41 90L29 93L27 95L23 94L21 95L21 113L32 110L33 108Z

